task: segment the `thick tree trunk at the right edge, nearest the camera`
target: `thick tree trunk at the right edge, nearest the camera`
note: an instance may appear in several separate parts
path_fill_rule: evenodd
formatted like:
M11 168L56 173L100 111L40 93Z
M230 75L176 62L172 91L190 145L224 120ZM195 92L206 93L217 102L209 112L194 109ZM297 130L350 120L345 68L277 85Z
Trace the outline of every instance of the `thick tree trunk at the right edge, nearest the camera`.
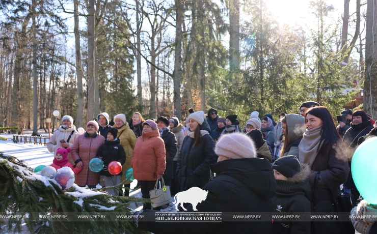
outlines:
M365 35L364 110L377 117L377 0L367 1Z

